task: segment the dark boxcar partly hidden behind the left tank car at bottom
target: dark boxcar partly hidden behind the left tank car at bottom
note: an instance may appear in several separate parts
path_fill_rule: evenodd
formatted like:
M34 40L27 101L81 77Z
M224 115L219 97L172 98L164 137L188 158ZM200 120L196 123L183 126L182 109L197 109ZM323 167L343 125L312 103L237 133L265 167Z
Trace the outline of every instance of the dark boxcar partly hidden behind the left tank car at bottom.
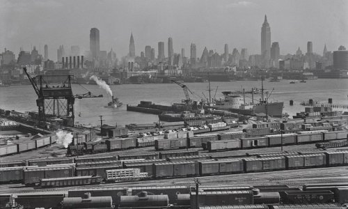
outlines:
M102 188L102 189L69 189L69 197L81 197L86 192L90 192L90 196L111 196L113 203L118 206L120 196L127 195L127 189L124 187Z

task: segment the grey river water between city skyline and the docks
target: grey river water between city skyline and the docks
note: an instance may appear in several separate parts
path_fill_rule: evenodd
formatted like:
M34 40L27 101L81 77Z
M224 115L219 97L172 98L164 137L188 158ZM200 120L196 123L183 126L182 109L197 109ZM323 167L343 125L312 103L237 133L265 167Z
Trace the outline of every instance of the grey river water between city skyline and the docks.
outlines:
M245 88L261 88L260 81L237 81L237 82L211 82L212 97L216 88L216 98L223 98L222 91L241 91ZM186 83L194 93L190 95L194 100L200 100L205 96L209 97L208 83ZM125 84L111 86L113 95L120 98L123 106L116 109L105 108L111 100L106 96L106 92L96 85L84 85L95 95L103 94L104 98L84 98L75 100L75 121L80 124L100 124L100 117L103 116L104 123L109 125L125 125L129 123L152 123L158 121L158 116L152 114L142 114L126 110L126 104L136 105L140 101L152 101L156 104L172 104L184 99L184 92L177 84ZM86 89L79 85L73 85L74 94L86 93ZM304 111L304 107L299 105L302 101L309 99L320 102L328 102L333 99L333 104L348 104L348 80L347 79L316 79L307 80L306 83L290 84L289 80L280 82L264 82L264 88L273 93L270 101L284 102L283 113L296 115L296 112ZM248 95L251 96L251 95ZM260 95L254 95L259 99ZM0 88L0 108L14 109L16 111L38 111L36 107L36 95L32 86L10 86ZM290 106L289 101L294 100L294 105ZM250 102L246 98L246 102ZM342 109L341 109L342 110ZM346 111L348 111L346 109ZM81 116L79 113L81 112Z

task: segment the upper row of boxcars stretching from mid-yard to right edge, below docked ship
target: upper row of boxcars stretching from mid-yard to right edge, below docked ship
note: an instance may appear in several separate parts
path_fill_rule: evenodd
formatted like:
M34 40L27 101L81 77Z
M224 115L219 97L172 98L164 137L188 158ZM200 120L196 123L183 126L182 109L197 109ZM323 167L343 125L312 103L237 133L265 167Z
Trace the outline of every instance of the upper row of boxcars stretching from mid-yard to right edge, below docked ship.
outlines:
M316 143L336 139L347 139L348 130L327 132L316 130L296 134L272 134L265 137L247 137L244 132L230 132L216 135L202 135L182 139L161 139L155 141L156 150L203 147L209 151L287 146L292 144Z

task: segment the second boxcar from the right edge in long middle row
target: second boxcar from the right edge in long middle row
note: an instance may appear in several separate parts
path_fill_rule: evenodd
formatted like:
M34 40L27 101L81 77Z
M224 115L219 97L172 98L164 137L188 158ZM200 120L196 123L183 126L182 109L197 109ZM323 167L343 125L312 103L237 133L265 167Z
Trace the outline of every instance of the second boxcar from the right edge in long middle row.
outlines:
M326 165L326 156L324 153L308 155L290 155L285 156L287 169L301 169L307 167L324 167Z

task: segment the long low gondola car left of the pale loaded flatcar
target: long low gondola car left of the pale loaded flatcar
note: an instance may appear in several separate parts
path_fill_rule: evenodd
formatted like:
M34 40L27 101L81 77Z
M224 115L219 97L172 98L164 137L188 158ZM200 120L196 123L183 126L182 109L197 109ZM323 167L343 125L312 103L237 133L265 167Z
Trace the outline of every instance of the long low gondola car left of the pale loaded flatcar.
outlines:
M66 178L42 178L40 187L66 187L76 185L97 185L102 183L100 176L74 176Z

